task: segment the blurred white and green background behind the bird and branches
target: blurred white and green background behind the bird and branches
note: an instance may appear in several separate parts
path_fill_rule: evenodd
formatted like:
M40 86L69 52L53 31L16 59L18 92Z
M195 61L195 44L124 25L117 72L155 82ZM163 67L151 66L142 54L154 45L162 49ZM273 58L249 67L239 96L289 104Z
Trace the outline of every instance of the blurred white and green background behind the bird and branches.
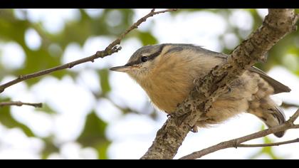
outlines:
M149 12L1 9L0 84L101 51ZM230 53L266 14L267 9L181 9L159 14L129 33L122 50L112 56L7 88L0 102L19 100L43 107L0 107L0 159L139 159L167 116L152 107L128 75L108 68L124 65L138 48L155 43L194 43ZM299 105L299 31L279 41L268 61L256 66L292 89L273 96L283 103L288 118ZM257 117L244 113L189 133L175 158L264 128ZM269 135L248 143L292 140L298 135L299 130L288 130L280 139ZM203 158L298 159L298 151L298 144L290 144L224 149Z

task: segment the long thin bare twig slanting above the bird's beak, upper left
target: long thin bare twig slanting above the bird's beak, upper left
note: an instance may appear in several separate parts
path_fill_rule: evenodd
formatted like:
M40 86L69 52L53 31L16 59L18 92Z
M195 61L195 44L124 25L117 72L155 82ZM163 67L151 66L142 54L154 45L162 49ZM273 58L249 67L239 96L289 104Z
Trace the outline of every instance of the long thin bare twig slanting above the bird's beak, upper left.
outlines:
M154 11L154 9L152 9L152 11L150 11L149 14L147 14L146 16L139 19L136 23L134 23L132 26L130 26L130 28L127 28L127 30L124 33L122 33L119 38L117 38L115 41L110 43L109 46L107 46L107 48L105 48L104 51L97 51L93 56L82 58L78 61L65 63L64 65L59 65L59 66L56 66L54 68L50 68L47 70L41 70L36 73L31 73L28 75L19 75L19 77L16 78L15 80L11 80L8 83L4 83L3 85L0 85L0 93L4 92L4 90L6 88L9 88L11 85L15 85L16 83L20 83L24 80L28 80L31 78L37 78L39 76L46 75L48 73L53 73L55 71L63 70L66 68L73 68L75 65L79 65L81 63L94 62L95 59L97 59L97 58L104 58L105 56L110 56L112 53L116 53L117 51L120 51L121 47L117 46L117 44L120 44L120 41L122 40L122 38L125 37L125 35L127 33L130 33L130 31L132 31L133 29L140 26L141 23L145 22L151 16L154 16L156 14L162 14L162 13L165 13L168 11L177 11L177 9L167 9L167 10L163 10L163 11Z

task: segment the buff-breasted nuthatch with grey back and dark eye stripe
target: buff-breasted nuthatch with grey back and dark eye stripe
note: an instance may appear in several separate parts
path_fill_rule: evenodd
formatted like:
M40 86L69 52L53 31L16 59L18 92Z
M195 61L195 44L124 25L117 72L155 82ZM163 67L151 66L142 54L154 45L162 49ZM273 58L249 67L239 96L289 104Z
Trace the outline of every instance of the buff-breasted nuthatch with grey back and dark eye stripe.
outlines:
M194 88L194 80L209 73L216 65L226 62L227 55L199 46L181 43L164 43L138 49L123 66L110 68L129 74L141 85L152 103L168 114L187 98ZM220 95L206 113L205 120L195 127L218 124L241 112L256 115L268 127L285 122L283 111L269 97L290 92L290 88L251 67ZM284 132L276 132L283 137Z

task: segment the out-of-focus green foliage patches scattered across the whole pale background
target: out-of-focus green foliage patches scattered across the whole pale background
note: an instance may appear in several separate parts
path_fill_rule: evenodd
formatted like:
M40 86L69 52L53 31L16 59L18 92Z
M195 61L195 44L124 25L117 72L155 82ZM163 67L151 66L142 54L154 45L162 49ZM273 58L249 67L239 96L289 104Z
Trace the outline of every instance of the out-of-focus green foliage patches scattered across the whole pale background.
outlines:
M98 16L88 15L88 9L78 9L80 12L80 19L75 21L68 21L65 23L65 27L62 31L58 33L49 33L46 31L41 23L31 22L26 14L26 10L23 10L25 16L24 19L19 19L15 15L14 9L1 9L0 10L0 42L6 43L9 41L14 41L18 43L23 51L26 53L26 61L21 66L21 68L16 70L5 69L0 64L0 80L2 80L6 75L23 75L28 73L33 73L38 70L44 70L46 68L52 68L56 65L61 65L61 56L65 48L70 43L78 43L80 46L83 46L85 41L91 36L110 36L116 37L122 31L125 31L134 21L134 11L132 9L104 9ZM97 9L90 9L97 10ZM261 25L263 19L258 15L258 12L255 9L244 9L249 11L253 18L253 30L258 28ZM196 12L196 11L211 11L215 14L224 16L225 19L229 20L231 12L234 9L182 9L175 13L172 13L172 16L179 15L180 12ZM120 16L119 21L115 24L108 23L110 21L111 15ZM229 21L228 21L229 23ZM32 28L35 30L39 36L42 38L41 47L33 51L31 48L28 48L25 43L25 32ZM229 28L227 28L226 33L234 33L238 37L239 41L242 41L242 30L238 27L231 25L229 23ZM252 31L252 30L251 30ZM140 31L135 30L130 33L128 37L136 37L140 39L143 45L158 43L157 38L150 31ZM289 36L286 36L281 40L276 46L271 49L268 53L267 63L258 63L258 67L263 70L269 70L273 65L284 65L286 68L289 68L293 73L299 75L299 31L292 33ZM219 42L224 44L224 39L219 37ZM53 45L56 47L53 49ZM224 45L225 46L225 45ZM103 46L102 46L103 47ZM99 48L103 49L103 48ZM230 48L225 48L223 52L230 53ZM1 56L1 53L0 53ZM295 60L295 65L289 66L289 58ZM294 63L293 63L294 64ZM99 69L97 71L100 78L100 87L102 93L95 94L96 98L106 98L107 93L111 91L109 83L109 72L106 68ZM52 73L51 76L61 79L65 75L70 75L75 78L78 73L75 73L70 70L61 70L56 73ZM26 80L25 83L30 87L31 85L38 83L40 78L35 78L32 80ZM1 98L0 101L7 101L8 98ZM130 110L130 107L117 107L124 114L128 112L134 112ZM44 105L42 109L43 112L46 112L50 115L55 115L56 112L51 109L50 106ZM150 113L150 116L155 117L154 112ZM0 122L1 125L6 127L19 127L23 132L26 133L29 137L36 136L33 132L21 122L18 122L14 117L11 116L9 107L0 107ZM85 127L78 137L78 142L83 145L83 147L94 147L98 151L99 159L107 159L107 147L110 145L110 141L107 140L105 136L105 129L107 123L101 120L97 115L95 115L94 110L90 111L90 114L86 117ZM46 144L45 149L43 150L43 157L47 158L48 154L52 152L58 152L59 147L53 143L52 137L39 137ZM268 138L264 139L265 142L271 142ZM254 155L251 158L258 157L259 154L268 154L273 159L278 159L275 154L273 154L271 147L265 147L261 149L261 152Z

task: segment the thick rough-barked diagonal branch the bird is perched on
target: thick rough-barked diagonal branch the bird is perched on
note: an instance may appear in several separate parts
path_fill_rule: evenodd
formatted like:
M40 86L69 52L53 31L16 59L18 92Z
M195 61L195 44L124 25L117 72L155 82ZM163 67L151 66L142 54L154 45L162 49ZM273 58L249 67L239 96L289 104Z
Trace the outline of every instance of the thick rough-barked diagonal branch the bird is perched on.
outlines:
M297 19L293 9L269 9L263 25L231 53L224 65L216 66L204 78L196 80L189 97L167 119L141 159L172 159L195 123L204 120L211 103L228 89L227 84L262 60L286 34L295 31Z

